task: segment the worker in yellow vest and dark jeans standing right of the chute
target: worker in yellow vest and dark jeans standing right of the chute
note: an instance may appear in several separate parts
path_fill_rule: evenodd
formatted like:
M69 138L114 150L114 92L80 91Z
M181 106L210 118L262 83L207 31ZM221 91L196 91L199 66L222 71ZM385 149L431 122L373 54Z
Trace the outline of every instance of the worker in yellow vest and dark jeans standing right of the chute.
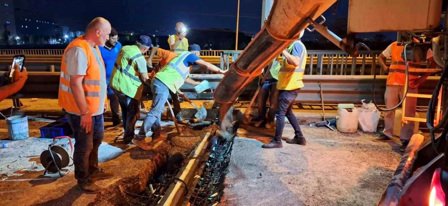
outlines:
M302 88L303 73L306 66L306 48L300 38L302 38L304 30L299 35L299 39L294 41L286 50L283 50L283 65L278 74L277 89L279 97L276 111L276 134L271 142L263 144L263 148L281 148L283 147L281 137L284 129L284 117L286 116L293 126L294 138L286 141L290 144L306 145L299 122L293 114L293 102Z

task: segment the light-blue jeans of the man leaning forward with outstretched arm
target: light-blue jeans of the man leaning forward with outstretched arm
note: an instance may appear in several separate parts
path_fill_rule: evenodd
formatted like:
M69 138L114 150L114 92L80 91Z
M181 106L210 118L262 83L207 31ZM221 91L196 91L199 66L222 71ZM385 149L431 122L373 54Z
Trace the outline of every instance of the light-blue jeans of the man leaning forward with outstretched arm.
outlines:
M152 105L151 111L146 115L143 125L135 137L143 140L150 135L148 132L152 129L160 130L160 116L164 112L165 103L168 100L169 88L159 79L154 78L151 83Z

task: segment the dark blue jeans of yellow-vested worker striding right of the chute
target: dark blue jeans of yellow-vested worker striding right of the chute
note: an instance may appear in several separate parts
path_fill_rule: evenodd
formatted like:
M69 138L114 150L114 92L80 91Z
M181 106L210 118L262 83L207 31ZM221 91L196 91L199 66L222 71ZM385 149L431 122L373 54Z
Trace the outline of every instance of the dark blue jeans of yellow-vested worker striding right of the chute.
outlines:
M279 99L277 103L277 124L276 124L276 135L274 136L274 141L281 143L281 136L284 129L284 117L288 118L289 123L293 126L295 138L301 138L302 130L300 129L299 122L296 116L293 114L293 102L299 94L300 89L296 90L279 90Z

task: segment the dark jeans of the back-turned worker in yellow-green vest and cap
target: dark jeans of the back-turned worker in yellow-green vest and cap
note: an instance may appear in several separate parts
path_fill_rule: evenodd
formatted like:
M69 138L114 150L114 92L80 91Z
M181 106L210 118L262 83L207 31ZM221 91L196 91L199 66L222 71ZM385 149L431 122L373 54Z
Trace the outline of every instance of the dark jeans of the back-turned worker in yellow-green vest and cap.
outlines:
M118 102L121 106L121 116L123 117L123 128L125 128L125 135L123 136L123 142L130 143L134 138L135 122L140 117L140 109L138 105L140 101L128 97L127 95L112 89L115 95L118 97Z

